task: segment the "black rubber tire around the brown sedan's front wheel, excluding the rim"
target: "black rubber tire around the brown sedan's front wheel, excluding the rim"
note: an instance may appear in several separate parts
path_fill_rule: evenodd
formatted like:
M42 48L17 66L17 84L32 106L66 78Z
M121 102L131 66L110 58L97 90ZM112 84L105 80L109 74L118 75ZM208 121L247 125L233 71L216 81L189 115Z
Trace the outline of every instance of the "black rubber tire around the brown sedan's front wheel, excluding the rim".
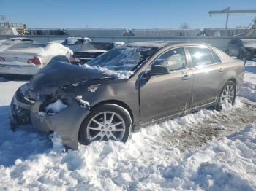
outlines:
M125 124L125 132L124 137L123 139L121 139L121 141L126 142L129 139L129 135L132 130L132 119L130 117L129 112L127 111L127 109L124 109L123 107L118 106L116 104L103 104L92 109L91 113L86 117L85 120L83 120L83 123L80 126L78 134L78 140L80 144L90 144L91 141L87 139L86 128L90 120L100 112L115 112L116 114L119 114L122 117Z

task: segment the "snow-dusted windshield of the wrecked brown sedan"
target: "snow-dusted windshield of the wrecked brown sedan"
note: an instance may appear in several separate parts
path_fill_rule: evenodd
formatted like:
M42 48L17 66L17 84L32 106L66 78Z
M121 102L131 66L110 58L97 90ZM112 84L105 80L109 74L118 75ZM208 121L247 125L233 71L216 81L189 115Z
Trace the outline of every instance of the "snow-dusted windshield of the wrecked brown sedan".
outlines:
M116 47L87 64L113 71L135 71L154 52L157 52L156 47Z

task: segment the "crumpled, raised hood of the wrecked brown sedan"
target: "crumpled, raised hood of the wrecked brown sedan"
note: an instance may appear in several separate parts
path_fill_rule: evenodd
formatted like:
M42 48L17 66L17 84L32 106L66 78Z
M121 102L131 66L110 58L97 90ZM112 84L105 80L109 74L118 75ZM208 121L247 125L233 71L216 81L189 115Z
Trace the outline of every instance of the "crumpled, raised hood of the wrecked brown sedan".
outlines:
M59 87L91 79L110 77L97 69L75 66L71 63L53 61L40 69L30 82L29 89L42 94L53 94Z

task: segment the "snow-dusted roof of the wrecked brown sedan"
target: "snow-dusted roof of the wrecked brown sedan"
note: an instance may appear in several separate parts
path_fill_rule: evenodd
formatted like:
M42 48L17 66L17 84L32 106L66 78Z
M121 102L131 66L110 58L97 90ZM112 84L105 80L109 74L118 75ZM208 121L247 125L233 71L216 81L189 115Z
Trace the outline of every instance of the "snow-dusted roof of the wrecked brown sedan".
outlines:
M182 46L189 46L189 45L204 45L204 46L211 46L211 44L206 43L195 43L195 42L178 42L178 41L152 41L152 42L133 42L129 44L125 44L125 46L138 46L138 47L167 47L170 45L182 45Z

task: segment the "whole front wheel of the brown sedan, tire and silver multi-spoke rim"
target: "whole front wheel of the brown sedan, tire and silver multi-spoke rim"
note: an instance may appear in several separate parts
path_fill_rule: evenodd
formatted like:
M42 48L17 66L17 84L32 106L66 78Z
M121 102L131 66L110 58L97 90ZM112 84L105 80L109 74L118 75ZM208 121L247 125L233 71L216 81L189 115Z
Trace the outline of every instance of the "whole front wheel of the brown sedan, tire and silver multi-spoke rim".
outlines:
M116 125L118 123L120 125ZM132 119L126 109L116 104L103 104L92 109L83 120L78 139L81 144L108 140L126 142L131 129Z

